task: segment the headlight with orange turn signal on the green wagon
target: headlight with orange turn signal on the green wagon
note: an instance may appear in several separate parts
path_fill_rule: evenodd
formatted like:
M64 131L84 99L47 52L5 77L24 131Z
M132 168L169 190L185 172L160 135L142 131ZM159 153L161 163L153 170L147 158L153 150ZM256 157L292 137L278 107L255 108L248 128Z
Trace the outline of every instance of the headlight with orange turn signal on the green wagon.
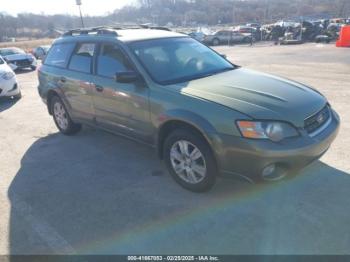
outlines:
M237 121L243 137L269 139L279 142L287 137L298 136L298 131L288 123L275 121Z

